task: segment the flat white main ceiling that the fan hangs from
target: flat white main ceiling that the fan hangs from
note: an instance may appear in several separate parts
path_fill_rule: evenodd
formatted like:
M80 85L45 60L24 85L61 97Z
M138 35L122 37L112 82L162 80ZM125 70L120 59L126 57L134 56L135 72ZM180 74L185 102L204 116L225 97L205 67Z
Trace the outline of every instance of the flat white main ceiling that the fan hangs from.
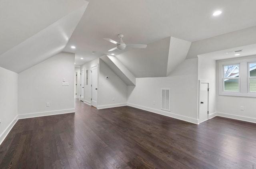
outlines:
M108 52L124 34L126 43L152 43L165 37L197 41L256 25L255 0L88 0L89 5L64 51L76 65ZM212 16L215 10L222 15ZM70 49L75 45L76 49ZM92 54L92 51L96 51ZM80 58L84 59L81 60Z

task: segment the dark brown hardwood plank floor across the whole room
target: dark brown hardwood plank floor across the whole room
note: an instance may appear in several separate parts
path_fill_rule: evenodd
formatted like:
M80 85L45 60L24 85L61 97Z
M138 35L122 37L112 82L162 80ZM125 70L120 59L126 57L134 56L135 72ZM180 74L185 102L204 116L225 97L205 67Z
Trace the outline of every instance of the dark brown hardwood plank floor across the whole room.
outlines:
M0 168L254 169L256 124L215 117L200 125L128 106L18 120Z

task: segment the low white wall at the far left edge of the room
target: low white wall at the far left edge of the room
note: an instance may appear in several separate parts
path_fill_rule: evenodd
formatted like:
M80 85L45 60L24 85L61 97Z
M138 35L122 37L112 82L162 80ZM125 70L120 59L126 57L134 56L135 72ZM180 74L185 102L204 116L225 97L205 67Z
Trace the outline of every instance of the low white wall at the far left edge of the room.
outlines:
M18 115L18 74L0 67L0 143Z

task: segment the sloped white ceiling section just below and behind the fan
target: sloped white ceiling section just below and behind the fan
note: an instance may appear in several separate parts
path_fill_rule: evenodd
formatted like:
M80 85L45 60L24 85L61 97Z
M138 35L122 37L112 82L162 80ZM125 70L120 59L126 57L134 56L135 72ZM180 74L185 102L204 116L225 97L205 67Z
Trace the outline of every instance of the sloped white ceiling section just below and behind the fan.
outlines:
M145 49L133 49L116 58L135 77L166 77L170 37L148 44Z

